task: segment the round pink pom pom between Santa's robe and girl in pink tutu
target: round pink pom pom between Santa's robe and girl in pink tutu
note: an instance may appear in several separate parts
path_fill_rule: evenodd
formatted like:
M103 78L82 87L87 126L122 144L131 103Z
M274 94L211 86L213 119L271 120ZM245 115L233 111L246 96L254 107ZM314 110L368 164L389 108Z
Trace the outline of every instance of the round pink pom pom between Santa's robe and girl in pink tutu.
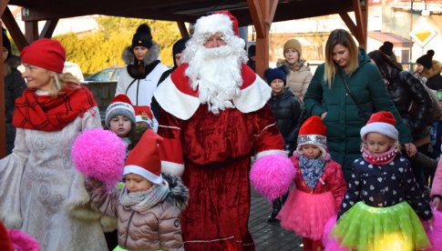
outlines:
M290 158L271 155L262 156L255 161L250 178L255 190L272 201L289 190L295 175Z

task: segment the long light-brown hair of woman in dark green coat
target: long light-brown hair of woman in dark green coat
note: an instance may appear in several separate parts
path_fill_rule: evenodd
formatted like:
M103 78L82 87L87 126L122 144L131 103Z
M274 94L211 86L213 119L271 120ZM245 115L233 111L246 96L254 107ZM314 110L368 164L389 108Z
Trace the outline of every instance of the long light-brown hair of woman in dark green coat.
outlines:
M338 68L333 60L333 50L335 45L343 45L348 49L349 62L345 67L345 72L352 75L359 66L357 59L357 45L352 35L343 29L335 29L327 39L325 43L325 69L324 69L324 81L329 88L332 88L334 82L334 75L337 73Z

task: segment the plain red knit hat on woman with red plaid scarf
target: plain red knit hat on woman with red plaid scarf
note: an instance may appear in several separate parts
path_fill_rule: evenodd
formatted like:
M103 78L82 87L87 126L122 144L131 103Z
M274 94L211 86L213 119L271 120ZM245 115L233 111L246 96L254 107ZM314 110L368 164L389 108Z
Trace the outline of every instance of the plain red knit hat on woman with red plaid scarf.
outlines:
M65 67L65 48L54 39L38 39L31 45L26 46L20 56L23 63L36 65L60 74Z

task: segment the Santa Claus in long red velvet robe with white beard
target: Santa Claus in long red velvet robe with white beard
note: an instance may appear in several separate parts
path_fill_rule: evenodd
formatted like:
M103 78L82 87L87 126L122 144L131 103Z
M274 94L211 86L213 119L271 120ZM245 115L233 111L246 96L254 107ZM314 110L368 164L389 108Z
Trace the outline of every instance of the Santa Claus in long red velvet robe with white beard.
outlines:
M288 160L267 105L271 88L245 65L238 22L228 12L196 22L183 60L154 95L163 109L162 170L181 176L190 189L181 217L185 249L253 250L248 230L252 149L258 163L264 156ZM284 167L293 169L290 161ZM279 183L280 175L268 175Z

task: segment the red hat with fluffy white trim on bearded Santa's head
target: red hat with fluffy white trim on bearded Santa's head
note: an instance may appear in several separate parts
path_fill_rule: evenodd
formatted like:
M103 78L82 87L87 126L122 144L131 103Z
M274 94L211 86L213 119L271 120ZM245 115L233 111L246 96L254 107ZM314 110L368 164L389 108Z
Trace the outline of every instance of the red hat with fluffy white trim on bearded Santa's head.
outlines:
M192 37L206 37L215 33L239 35L238 19L229 11L218 11L212 15L202 16L194 25Z

